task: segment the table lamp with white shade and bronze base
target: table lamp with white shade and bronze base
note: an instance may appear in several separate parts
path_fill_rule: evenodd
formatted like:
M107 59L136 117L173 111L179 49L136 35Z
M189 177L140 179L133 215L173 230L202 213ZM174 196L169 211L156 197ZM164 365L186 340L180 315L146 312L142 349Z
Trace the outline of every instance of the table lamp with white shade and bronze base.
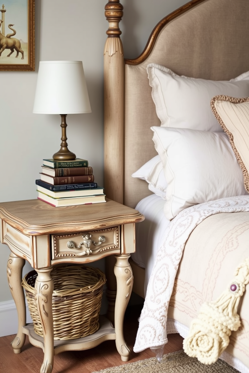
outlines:
M40 61L33 113L61 116L62 142L53 159L74 160L66 142L66 116L91 113L82 61Z

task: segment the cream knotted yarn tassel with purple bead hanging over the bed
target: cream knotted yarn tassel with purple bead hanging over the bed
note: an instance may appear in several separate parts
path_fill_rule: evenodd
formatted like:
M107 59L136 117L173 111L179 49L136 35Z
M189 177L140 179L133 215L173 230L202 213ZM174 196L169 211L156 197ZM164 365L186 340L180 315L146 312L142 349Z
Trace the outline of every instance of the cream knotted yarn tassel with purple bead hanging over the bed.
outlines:
M240 298L249 283L249 258L237 267L228 288L216 301L203 303L197 319L192 320L189 335L183 341L183 349L200 363L212 364L229 344L232 330L239 329L237 314Z

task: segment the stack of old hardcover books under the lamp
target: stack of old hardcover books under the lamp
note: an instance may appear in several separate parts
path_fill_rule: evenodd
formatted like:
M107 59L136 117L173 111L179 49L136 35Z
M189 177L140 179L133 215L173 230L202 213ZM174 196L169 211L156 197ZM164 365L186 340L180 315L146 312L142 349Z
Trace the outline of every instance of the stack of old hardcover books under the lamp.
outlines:
M102 187L94 182L93 168L85 159L43 159L40 179L35 180L38 199L55 207L105 202Z

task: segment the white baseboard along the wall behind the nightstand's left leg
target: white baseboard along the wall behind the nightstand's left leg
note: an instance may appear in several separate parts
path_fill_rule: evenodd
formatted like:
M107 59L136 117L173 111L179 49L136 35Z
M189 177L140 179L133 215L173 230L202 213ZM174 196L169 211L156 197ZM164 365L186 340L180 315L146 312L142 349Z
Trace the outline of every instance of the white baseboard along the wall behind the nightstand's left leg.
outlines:
M32 323L26 304L27 323ZM16 305L13 300L0 302L0 337L16 334L18 329L18 317Z

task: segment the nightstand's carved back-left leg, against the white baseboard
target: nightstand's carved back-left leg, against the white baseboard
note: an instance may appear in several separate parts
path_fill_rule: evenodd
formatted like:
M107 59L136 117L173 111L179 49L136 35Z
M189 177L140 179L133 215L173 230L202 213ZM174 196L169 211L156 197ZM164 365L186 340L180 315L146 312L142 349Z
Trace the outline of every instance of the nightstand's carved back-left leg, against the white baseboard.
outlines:
M19 258L13 253L10 254L7 263L7 279L18 314L18 332L15 339L11 342L15 354L21 352L25 342L25 334L22 332L22 327L26 325L26 306L22 288L22 269L24 264L25 259Z

